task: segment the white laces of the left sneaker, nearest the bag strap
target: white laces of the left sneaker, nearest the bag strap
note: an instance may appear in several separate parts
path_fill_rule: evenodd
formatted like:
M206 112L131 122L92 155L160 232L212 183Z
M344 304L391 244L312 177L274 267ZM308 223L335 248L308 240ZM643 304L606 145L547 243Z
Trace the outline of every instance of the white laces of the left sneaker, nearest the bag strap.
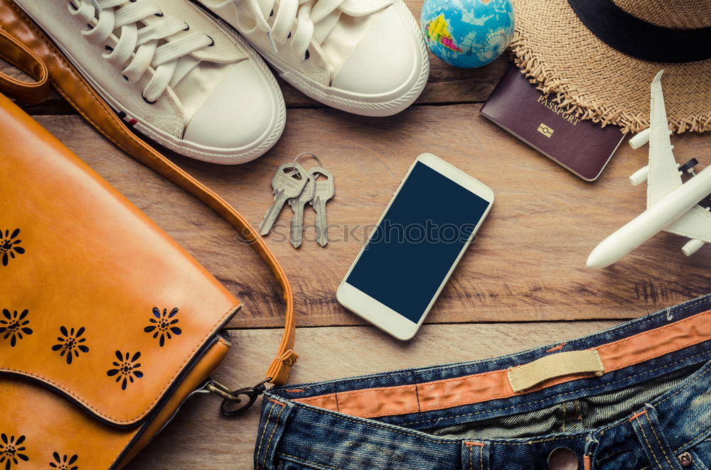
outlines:
M161 8L150 0L126 4L126 0L70 0L69 11L86 21L89 28L82 35L92 44L105 43L112 33L121 28L113 48L107 46L103 57L129 83L136 83L153 68L151 80L143 89L143 99L152 103L166 88L180 82L200 62L190 54L209 45L213 38L205 33L176 33L188 31L185 21L174 16L163 16ZM126 4L122 6L122 4ZM145 26L139 28L139 23ZM167 39L171 38L170 41Z

